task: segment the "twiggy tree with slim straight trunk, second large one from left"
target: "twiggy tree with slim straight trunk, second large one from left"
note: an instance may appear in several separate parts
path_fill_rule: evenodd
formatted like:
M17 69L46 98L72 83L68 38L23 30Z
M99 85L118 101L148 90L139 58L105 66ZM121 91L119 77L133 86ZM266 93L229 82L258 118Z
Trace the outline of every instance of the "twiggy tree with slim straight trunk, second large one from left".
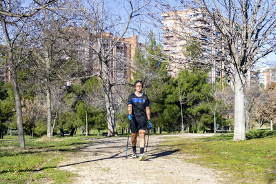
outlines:
M59 6L64 6L60 4ZM57 7L57 6L56 6ZM45 92L47 103L47 136L52 137L52 88L61 88L63 85L70 85L72 76L81 70L75 54L77 48L77 37L75 32L70 31L68 19L70 13L65 10L41 10L47 19L38 20L34 27L41 32L39 39L34 39L34 51L28 59L28 72L34 83L40 85ZM66 17L66 18L64 18ZM34 34L34 37L37 36ZM69 84L68 84L69 83ZM55 116L54 116L55 117Z

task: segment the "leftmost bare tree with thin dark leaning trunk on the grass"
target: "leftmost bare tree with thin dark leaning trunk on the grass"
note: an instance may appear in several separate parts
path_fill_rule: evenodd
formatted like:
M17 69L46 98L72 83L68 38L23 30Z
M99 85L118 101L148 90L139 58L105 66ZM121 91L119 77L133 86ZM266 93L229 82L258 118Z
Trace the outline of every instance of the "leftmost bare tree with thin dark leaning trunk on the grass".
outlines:
M48 1L47 3L38 3L32 1L31 3L25 3L24 8L21 4L23 1L1 1L0 2L0 20L1 20L1 32L6 43L8 52L8 61L10 65L10 74L12 79L12 85L14 90L14 99L17 111L17 129L19 136L19 146L25 149L25 139L23 133L23 121L22 121L22 110L21 100L19 93L19 85L17 83L17 65L26 60L31 52L26 53L26 48L30 46L30 22L34 14L39 10L46 8L55 1ZM28 33L27 33L28 32ZM28 45L29 44L29 45Z

